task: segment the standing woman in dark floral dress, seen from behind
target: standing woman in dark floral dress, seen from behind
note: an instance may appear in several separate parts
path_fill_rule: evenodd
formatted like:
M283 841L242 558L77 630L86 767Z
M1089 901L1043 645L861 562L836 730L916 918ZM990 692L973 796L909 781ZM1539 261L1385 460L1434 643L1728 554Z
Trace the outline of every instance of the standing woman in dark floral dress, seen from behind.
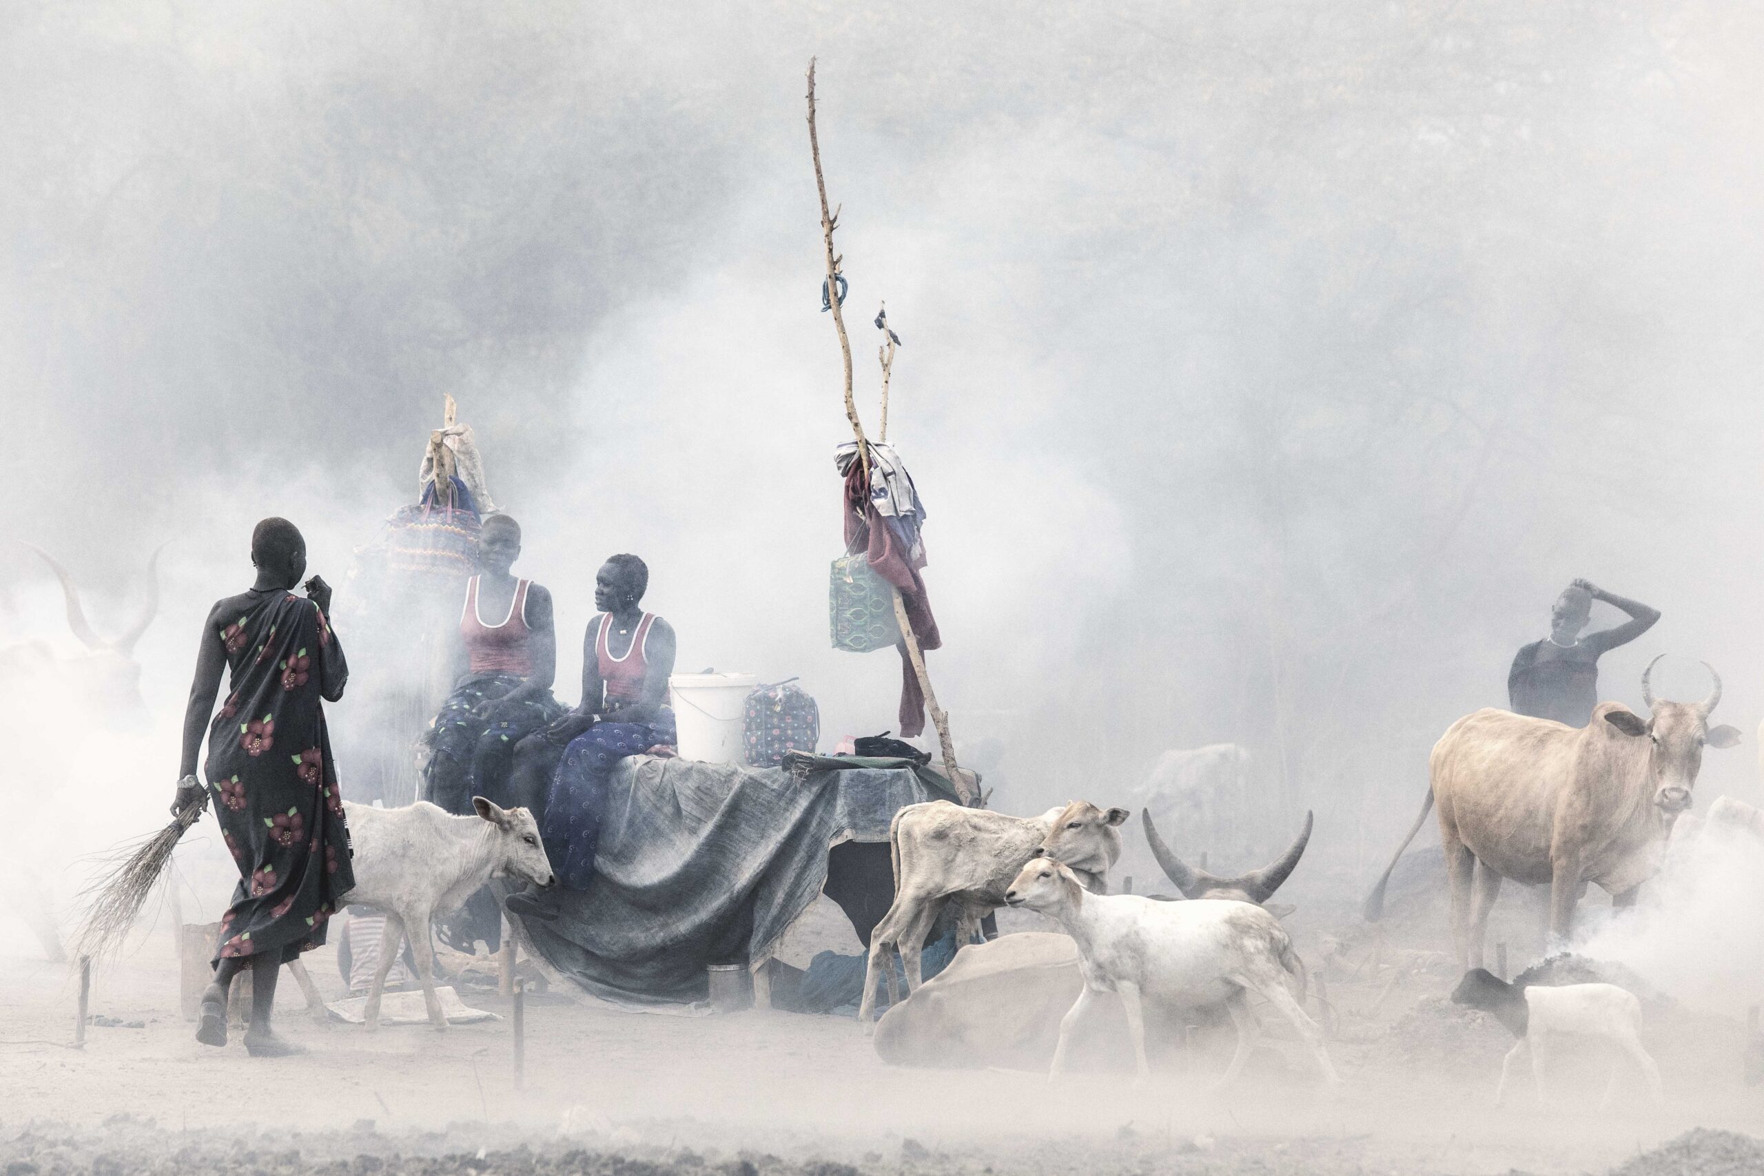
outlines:
M208 728L208 790L240 883L220 920L213 984L203 991L196 1040L226 1044L226 998L250 968L256 1056L303 1053L270 1028L284 963L325 942L325 920L355 885L342 793L319 700L342 698L349 666L325 619L330 585L312 577L305 599L291 589L307 571L307 543L286 518L250 532L258 582L217 601L203 622L196 681L183 714L183 763L173 811L196 799L196 756ZM213 712L220 674L228 696Z

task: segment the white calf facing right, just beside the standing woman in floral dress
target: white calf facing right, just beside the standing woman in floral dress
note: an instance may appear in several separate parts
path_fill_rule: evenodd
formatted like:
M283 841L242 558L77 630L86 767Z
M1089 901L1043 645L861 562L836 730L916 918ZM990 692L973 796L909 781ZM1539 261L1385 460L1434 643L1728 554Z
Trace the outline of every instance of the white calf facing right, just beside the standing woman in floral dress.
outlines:
M533 813L501 809L483 797L473 797L473 806L478 809L476 816L450 816L427 800L400 809L344 800L355 846L355 889L342 901L386 912L379 968L367 993L365 1023L370 1030L379 1028L379 998L386 987L386 971L399 957L400 936L411 942L429 1024L445 1030L446 1016L436 996L429 920L459 910L490 878L519 878L540 887L552 883L550 859L545 857Z

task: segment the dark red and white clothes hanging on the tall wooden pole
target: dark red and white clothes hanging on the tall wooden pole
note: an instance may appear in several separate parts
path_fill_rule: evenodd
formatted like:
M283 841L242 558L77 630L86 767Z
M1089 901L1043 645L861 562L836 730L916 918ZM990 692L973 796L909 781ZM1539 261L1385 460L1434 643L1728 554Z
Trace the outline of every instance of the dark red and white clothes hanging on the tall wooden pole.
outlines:
M875 455L887 453L887 467ZM870 485L864 487L864 467L857 460L857 443L841 444L834 464L845 474L845 550L864 552L870 568L900 591L907 608L907 622L919 638L919 651L942 649L944 638L931 615L931 599L924 591L919 569L924 568L924 541L919 524L924 504L912 487L912 474L889 446L871 444ZM880 488L880 494L878 494ZM900 733L907 739L924 732L924 691L912 668L907 644L900 649Z

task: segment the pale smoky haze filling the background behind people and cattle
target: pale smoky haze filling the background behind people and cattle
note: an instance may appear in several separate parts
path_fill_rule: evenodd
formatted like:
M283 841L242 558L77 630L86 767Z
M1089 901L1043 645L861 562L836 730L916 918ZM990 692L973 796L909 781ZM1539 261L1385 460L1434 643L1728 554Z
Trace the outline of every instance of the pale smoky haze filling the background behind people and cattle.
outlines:
M898 726L898 661L827 649L850 434L818 309L811 56L857 404L873 421L886 300L889 441L928 504L946 640L930 666L993 808L1124 804L1161 751L1238 742L1274 816L1251 848L1316 811L1293 880L1311 950L1346 936L1328 919L1413 820L1434 739L1505 705L1514 651L1575 577L1663 612L1603 658L1600 696L1639 707L1667 654L1656 693L1699 698L1708 661L1716 721L1746 739L1708 756L1697 809L1759 802L1760 55L1764 12L1723 0L16 0L0 540L65 562L101 633L164 550L143 725L9 705L11 857L65 915L85 855L162 820L198 628L249 584L250 524L293 518L340 584L415 499L443 395L524 527L517 573L556 596L564 703L594 569L637 552L679 670L801 675L829 748ZM78 649L46 568L0 541L0 645L23 642ZM185 901L217 917L231 864L205 846L180 857ZM1743 1017L1764 940L1708 912L1764 919L1748 852L1722 841L1633 922L1595 922L1588 950ZM18 919L0 927L0 954L34 954ZM1415 927L1413 947L1448 949L1443 915ZM1683 966L1711 936L1725 954ZM26 973L62 1016L62 973ZM1372 1021L1450 982L1418 970ZM607 1033L665 1019L639 1021ZM852 1040L817 1024L801 1047L861 1056L864 1083L923 1081L838 1028ZM1450 1090L1480 1100L1494 1076ZM1738 1090L1700 1118L1686 1095L1671 1121L1757 1134ZM931 1114L887 1105L866 1130ZM977 1105L1014 1114L1007 1084ZM1503 1127L1473 1165L1633 1153L1633 1132L1596 1125L1524 1151L1536 1127Z

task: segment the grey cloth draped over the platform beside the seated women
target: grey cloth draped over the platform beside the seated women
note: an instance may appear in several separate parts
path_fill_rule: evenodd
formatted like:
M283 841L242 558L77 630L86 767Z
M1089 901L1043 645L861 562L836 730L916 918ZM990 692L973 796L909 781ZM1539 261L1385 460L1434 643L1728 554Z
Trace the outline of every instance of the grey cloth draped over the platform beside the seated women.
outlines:
M887 841L907 804L954 800L905 760L796 755L789 767L623 760L586 892L533 947L580 987L628 1003L706 1000L706 966L766 959L827 882L827 850ZM834 765L843 770L834 770Z

